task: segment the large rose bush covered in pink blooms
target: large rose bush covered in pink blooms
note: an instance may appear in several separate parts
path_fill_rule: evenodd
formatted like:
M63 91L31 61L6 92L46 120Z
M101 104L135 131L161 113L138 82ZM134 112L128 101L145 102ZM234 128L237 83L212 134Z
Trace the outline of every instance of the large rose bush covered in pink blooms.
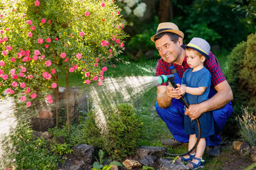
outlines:
M60 72L81 72L102 84L105 66L124 50L124 24L112 0L0 2L0 96L27 107L38 96L53 103ZM47 96L47 97L46 97Z

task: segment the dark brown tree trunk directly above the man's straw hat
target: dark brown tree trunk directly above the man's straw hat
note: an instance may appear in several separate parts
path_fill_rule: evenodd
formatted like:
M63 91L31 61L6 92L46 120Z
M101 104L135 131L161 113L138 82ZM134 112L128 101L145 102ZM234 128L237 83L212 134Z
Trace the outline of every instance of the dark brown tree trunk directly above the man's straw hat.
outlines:
M173 10L171 6L171 0L159 1L159 22L170 22L173 19Z

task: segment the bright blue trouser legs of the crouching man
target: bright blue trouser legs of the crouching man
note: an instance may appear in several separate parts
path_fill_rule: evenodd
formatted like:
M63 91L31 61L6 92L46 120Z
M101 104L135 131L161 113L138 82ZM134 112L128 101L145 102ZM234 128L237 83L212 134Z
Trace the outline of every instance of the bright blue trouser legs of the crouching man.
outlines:
M228 103L223 108L213 111L213 119L215 125L215 135L206 137L207 146L217 146L220 145L220 132L223 130L226 120L230 118L233 108L231 102ZM168 108L160 108L158 103L156 103L156 112L159 114L160 118L164 120L167 127L174 135L174 138L178 142L187 143L189 135L185 133L184 129L184 104L181 100L173 98L171 106Z

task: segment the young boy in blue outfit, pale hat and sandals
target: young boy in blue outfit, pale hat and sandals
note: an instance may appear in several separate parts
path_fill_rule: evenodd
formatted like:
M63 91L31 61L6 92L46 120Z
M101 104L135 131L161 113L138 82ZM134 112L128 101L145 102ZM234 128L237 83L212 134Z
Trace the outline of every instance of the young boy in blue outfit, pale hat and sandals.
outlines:
M186 45L186 60L191 67L183 74L181 86L176 90L185 95L184 99L190 104L201 103L208 100L210 92L210 72L203 66L203 62L209 59L210 45L202 38L193 38ZM179 159L188 162L188 169L199 169L203 167L203 152L206 149L206 137L214 135L214 122L211 112L203 113L198 121L201 126L201 139L196 149L184 157ZM188 150L196 144L198 137L198 129L196 120L191 121L188 115L184 118L185 132L190 135L188 142Z

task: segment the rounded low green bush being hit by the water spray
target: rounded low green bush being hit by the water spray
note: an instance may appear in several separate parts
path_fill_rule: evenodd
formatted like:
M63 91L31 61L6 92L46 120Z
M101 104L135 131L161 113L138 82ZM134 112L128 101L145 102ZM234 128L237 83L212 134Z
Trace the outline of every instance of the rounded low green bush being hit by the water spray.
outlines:
M107 111L107 110L106 110ZM93 113L85 120L87 144L102 148L112 159L121 159L134 154L141 135L142 120L137 118L134 109L127 103L117 106L117 111L108 109L107 135L100 134Z

